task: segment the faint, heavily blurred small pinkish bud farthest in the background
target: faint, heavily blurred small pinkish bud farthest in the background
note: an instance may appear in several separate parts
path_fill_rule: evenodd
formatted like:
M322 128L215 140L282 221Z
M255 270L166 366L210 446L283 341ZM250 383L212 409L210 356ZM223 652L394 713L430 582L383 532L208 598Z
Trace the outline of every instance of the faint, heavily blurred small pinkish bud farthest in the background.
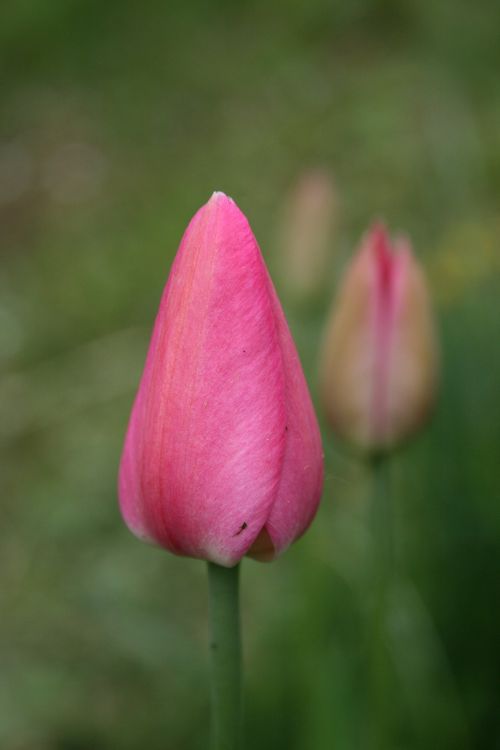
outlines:
M337 196L330 175L305 172L292 188L279 228L283 279L298 298L318 292L331 268Z

